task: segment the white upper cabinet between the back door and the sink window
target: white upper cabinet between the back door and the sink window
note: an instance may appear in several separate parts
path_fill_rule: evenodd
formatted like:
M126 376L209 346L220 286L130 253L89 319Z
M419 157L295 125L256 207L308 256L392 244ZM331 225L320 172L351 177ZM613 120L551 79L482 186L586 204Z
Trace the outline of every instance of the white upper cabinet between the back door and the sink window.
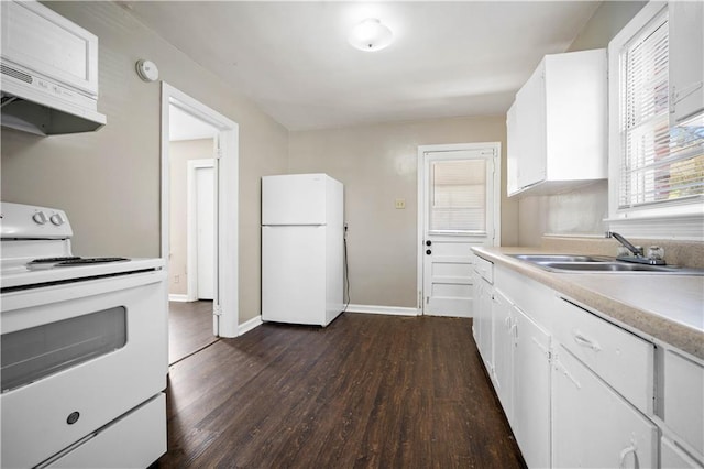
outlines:
M605 179L606 50L546 55L507 116L508 195Z

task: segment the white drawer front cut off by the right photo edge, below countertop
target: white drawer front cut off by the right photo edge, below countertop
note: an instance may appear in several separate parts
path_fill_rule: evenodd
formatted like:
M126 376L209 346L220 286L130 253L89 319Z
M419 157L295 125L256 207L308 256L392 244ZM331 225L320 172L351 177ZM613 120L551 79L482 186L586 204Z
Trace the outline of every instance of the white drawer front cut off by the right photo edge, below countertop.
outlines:
M671 350L664 355L664 422L704 454L704 367Z

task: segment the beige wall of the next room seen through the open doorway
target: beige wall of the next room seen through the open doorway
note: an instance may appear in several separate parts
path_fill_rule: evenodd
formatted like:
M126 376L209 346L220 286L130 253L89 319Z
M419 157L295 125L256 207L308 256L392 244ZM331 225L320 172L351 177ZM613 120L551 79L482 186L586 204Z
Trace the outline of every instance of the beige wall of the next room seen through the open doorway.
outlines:
M169 197L169 259L168 293L185 295L188 293L188 272L186 272L188 247L188 162L190 160L212 159L212 139L184 140L170 142L170 197Z

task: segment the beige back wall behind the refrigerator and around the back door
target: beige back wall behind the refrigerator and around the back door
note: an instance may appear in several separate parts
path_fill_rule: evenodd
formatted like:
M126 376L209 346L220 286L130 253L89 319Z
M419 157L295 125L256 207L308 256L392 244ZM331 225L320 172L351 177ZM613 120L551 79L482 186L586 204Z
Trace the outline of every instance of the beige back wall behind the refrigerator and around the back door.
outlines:
M455 118L292 132L289 171L322 172L344 184L351 303L416 307L418 146L501 142L505 118ZM502 194L506 193L503 177ZM396 198L406 208L394 207ZM502 200L502 242L517 242L515 201Z

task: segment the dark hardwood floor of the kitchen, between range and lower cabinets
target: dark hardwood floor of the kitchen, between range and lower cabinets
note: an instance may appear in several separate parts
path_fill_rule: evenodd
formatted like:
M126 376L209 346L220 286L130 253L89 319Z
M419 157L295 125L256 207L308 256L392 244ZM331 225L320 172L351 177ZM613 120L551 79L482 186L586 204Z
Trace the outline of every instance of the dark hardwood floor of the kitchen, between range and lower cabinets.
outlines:
M265 324L170 367L154 467L524 467L471 320Z

